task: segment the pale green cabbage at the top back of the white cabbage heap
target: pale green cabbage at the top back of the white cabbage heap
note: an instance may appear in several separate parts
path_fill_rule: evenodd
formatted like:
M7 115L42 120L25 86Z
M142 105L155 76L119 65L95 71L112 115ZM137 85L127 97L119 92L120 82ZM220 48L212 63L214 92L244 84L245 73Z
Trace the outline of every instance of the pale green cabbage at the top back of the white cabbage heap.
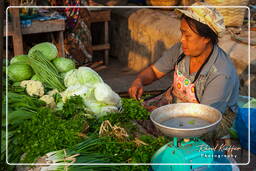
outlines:
M64 78L64 84L66 87L73 85L86 85L88 87L94 87L97 83L102 83L103 80L97 72L89 67L80 67L67 72Z

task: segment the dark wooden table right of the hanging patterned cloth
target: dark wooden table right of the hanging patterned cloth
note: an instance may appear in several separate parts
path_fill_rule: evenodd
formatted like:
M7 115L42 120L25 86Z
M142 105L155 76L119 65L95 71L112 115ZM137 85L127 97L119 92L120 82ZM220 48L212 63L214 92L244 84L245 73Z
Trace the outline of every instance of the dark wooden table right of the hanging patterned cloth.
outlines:
M104 63L108 65L109 63L109 21L111 20L111 12L110 10L102 9L102 10L92 10L90 11L90 23L104 22L104 42L103 44L93 45L93 51L104 50Z

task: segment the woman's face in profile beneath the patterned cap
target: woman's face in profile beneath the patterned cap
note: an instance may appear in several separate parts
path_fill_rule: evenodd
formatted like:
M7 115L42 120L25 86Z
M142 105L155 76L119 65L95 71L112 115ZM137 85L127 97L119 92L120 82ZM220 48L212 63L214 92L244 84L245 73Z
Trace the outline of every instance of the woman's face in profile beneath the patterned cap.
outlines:
M195 28L193 28L195 30ZM187 21L181 20L181 44L182 50L186 56L197 57L200 56L206 49L207 43L210 39L200 36L195 33L188 25Z

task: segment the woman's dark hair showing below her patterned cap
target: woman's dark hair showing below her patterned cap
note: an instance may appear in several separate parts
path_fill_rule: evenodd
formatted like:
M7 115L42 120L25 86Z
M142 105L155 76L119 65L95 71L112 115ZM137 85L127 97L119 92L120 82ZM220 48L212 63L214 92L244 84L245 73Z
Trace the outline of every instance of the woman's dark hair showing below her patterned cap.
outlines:
M196 33L202 37L211 39L211 42L213 45L218 43L217 34L209 26L207 26L206 24L203 24L193 18L190 18L184 14L181 16L181 18L184 18L187 21L189 27L191 28L191 30L194 33Z

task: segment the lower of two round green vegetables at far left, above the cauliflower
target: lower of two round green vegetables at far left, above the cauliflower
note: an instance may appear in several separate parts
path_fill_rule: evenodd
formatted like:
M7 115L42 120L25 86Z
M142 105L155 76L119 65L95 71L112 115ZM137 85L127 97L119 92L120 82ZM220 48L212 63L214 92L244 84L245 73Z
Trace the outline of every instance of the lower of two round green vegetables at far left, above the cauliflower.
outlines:
M10 80L14 82L28 80L32 77L32 75L33 70L27 64L14 63L8 67L8 76Z

